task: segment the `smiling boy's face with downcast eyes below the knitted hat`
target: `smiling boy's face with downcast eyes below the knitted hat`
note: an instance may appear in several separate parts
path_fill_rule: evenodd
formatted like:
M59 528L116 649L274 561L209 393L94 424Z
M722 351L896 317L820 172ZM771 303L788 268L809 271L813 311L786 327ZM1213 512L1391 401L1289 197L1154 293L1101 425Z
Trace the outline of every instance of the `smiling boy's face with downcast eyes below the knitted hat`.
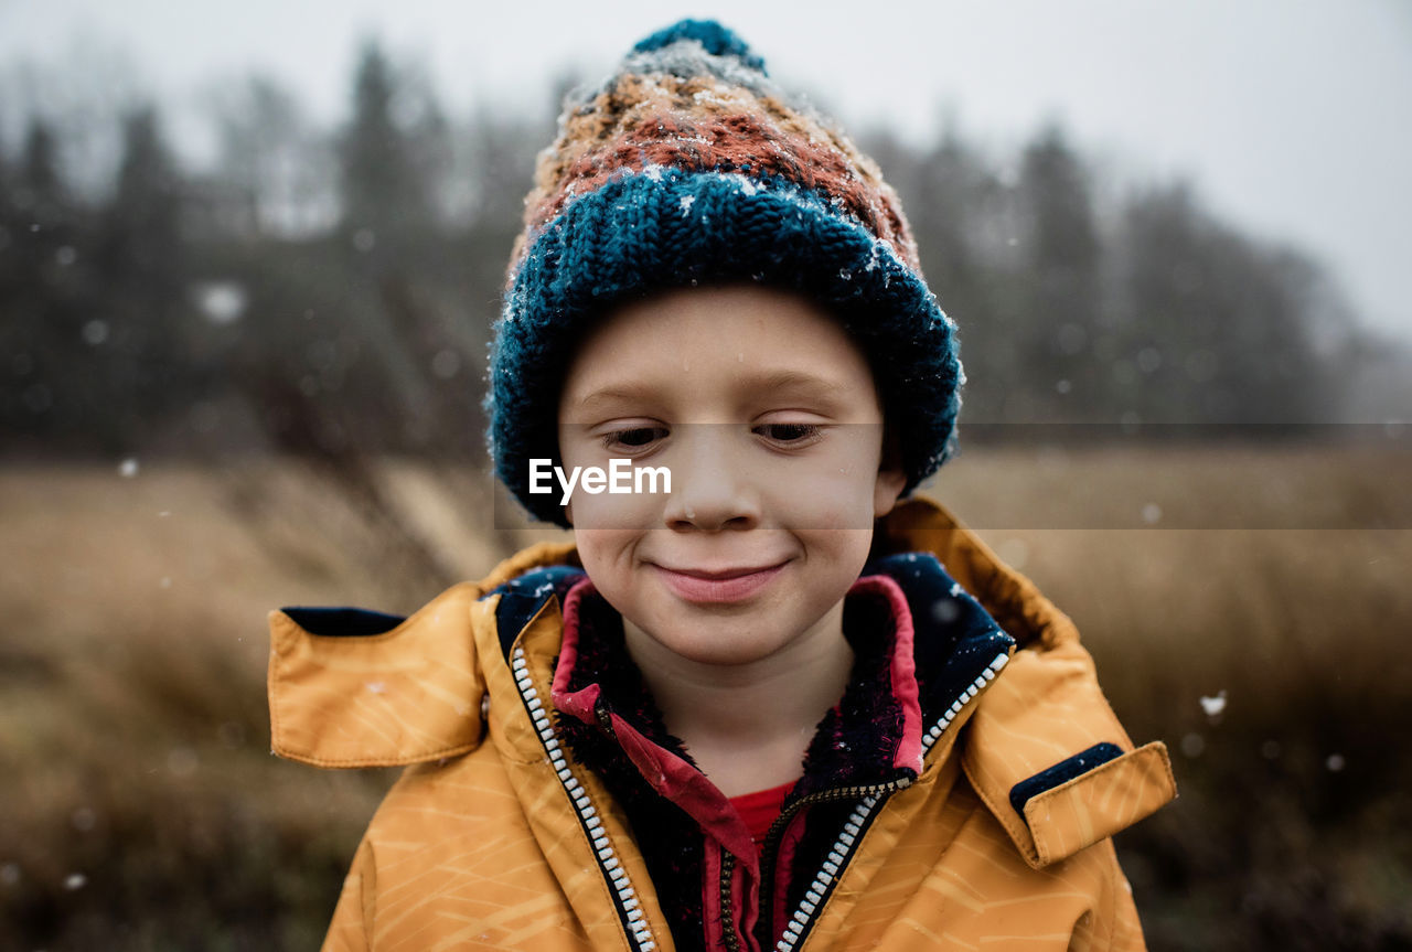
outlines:
M568 508L640 661L747 664L837 637L873 520L905 484L881 468L860 350L812 302L755 285L613 311L565 377L559 449L565 472L671 472L671 494L576 489Z

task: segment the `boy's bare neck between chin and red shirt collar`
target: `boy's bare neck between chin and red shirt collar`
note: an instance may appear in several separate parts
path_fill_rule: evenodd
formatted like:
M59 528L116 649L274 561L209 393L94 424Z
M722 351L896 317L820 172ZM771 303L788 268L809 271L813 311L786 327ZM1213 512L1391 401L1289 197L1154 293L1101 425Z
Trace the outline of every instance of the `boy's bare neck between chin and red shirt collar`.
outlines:
M623 627L666 729L726 797L798 780L853 670L842 602L779 651L740 665L683 658L627 619Z

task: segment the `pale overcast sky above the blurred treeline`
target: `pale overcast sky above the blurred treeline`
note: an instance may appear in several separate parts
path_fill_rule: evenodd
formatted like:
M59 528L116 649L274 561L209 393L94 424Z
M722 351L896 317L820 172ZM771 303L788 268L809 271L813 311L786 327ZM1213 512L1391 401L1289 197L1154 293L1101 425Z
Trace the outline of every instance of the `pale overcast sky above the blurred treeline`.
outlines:
M1254 234L1330 264L1365 319L1412 338L1412 3L1406 0L0 0L0 64L126 51L199 124L212 82L258 69L323 120L357 44L422 64L449 110L541 110L682 16L736 30L849 129L929 141L949 112L1005 150L1060 120L1111 178L1183 174ZM195 117L195 119L193 119Z

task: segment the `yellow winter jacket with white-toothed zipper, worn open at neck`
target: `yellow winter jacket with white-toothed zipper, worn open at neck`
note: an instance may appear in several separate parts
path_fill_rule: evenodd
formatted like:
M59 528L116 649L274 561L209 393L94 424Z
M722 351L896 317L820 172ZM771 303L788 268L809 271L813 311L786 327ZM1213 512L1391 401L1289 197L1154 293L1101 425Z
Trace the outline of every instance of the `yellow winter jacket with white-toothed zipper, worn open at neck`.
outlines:
M806 797L798 826L777 823L784 839L805 831L792 863L806 869L774 900L755 901L772 880L731 855L729 822L705 836L696 856L722 888L705 890L705 938L688 945L1142 948L1108 836L1175 797L1166 749L1132 747L1072 621L939 506L901 503L874 549L945 566L880 562L916 623L922 719L898 715L887 784ZM634 833L623 799L575 756L566 737L594 730L592 712L580 725L554 710L568 706L555 665L575 565L572 545L537 545L405 620L271 613L275 753L407 766L359 846L325 949L650 952L676 948L674 924L685 935L681 894L648 871L669 845ZM638 780L676 795L655 766L671 754L617 740ZM921 770L904 764L918 756ZM801 845L820 829L822 846Z

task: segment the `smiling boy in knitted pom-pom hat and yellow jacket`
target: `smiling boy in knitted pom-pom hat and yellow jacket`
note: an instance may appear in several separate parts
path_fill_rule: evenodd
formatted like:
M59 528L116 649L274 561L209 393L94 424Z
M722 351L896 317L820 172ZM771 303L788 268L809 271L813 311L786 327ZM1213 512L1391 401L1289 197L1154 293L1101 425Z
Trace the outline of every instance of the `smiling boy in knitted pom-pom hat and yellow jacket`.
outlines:
M275 750L408 766L326 948L1141 948L1107 838L1166 751L898 501L960 366L877 168L682 21L565 112L525 219L491 451L573 544L405 620L271 616Z

